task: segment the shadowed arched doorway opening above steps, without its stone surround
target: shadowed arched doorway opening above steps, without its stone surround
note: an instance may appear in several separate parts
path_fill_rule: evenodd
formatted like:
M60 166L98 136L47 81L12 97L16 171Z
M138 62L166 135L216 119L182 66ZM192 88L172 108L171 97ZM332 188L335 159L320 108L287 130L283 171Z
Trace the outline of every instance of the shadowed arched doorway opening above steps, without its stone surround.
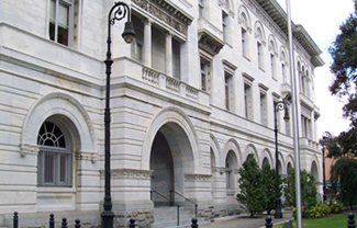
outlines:
M186 193L185 174L192 172L192 149L183 129L176 123L163 125L154 137L149 159L152 200L156 206L169 205L168 200L185 201L180 196Z

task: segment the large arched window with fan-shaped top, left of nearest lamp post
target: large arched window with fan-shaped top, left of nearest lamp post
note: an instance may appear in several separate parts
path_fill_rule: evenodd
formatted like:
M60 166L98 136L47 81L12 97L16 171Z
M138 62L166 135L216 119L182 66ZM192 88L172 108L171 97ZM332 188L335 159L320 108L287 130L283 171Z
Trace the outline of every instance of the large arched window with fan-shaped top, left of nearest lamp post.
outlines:
M38 186L71 186L72 152L66 134L55 123L43 123L37 135Z

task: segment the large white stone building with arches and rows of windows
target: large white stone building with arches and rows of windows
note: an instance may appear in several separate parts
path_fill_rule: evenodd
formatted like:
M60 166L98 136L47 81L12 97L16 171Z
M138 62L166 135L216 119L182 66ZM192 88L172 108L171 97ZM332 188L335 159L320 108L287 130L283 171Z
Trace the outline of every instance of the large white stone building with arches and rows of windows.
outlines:
M115 223L155 220L169 196L212 220L241 212L237 169L254 155L293 167L287 14L276 0L125 0L112 27L111 173ZM104 196L108 12L113 0L0 3L0 226L49 213L100 224ZM301 168L321 185L314 69L321 50L294 25ZM320 187L321 189L321 187ZM321 190L320 190L321 192ZM185 197L182 197L185 196Z

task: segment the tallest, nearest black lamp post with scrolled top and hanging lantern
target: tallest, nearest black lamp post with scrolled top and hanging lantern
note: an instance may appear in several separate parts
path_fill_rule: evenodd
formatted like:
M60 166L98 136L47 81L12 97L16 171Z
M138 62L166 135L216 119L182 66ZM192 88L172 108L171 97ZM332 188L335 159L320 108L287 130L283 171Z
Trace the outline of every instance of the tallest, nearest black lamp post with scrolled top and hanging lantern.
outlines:
M114 15L112 13L114 12ZM115 2L115 4L110 9L108 16L108 50L105 64L107 73L107 91L105 91L105 111L104 111L104 149L105 149L105 196L104 196L104 210L101 214L102 217L102 228L112 228L114 213L112 212L112 197L110 195L110 75L112 71L113 60L111 59L110 44L110 27L115 24L115 21L121 21L127 15L127 21L125 22L125 29L122 34L126 43L132 43L135 37L135 32L133 30L133 24L131 22L130 8L124 2Z

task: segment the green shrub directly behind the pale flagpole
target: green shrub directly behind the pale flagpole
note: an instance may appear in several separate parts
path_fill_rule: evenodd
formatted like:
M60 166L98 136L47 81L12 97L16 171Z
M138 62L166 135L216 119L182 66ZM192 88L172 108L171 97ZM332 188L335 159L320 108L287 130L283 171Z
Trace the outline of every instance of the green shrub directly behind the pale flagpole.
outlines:
M289 169L288 176L283 179L283 193L286 196L286 206L297 207L295 198L295 171ZM315 178L306 170L300 172L301 183L301 206L311 208L317 203L317 187L315 185Z

